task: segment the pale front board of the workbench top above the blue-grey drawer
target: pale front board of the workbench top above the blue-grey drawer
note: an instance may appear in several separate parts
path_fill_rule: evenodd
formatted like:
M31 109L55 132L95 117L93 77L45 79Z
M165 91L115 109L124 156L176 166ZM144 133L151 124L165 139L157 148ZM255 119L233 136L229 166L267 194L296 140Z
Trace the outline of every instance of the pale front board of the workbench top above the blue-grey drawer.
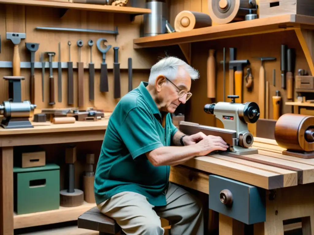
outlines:
M239 180L264 189L284 187L283 175L217 159L211 156L199 156L182 165Z

